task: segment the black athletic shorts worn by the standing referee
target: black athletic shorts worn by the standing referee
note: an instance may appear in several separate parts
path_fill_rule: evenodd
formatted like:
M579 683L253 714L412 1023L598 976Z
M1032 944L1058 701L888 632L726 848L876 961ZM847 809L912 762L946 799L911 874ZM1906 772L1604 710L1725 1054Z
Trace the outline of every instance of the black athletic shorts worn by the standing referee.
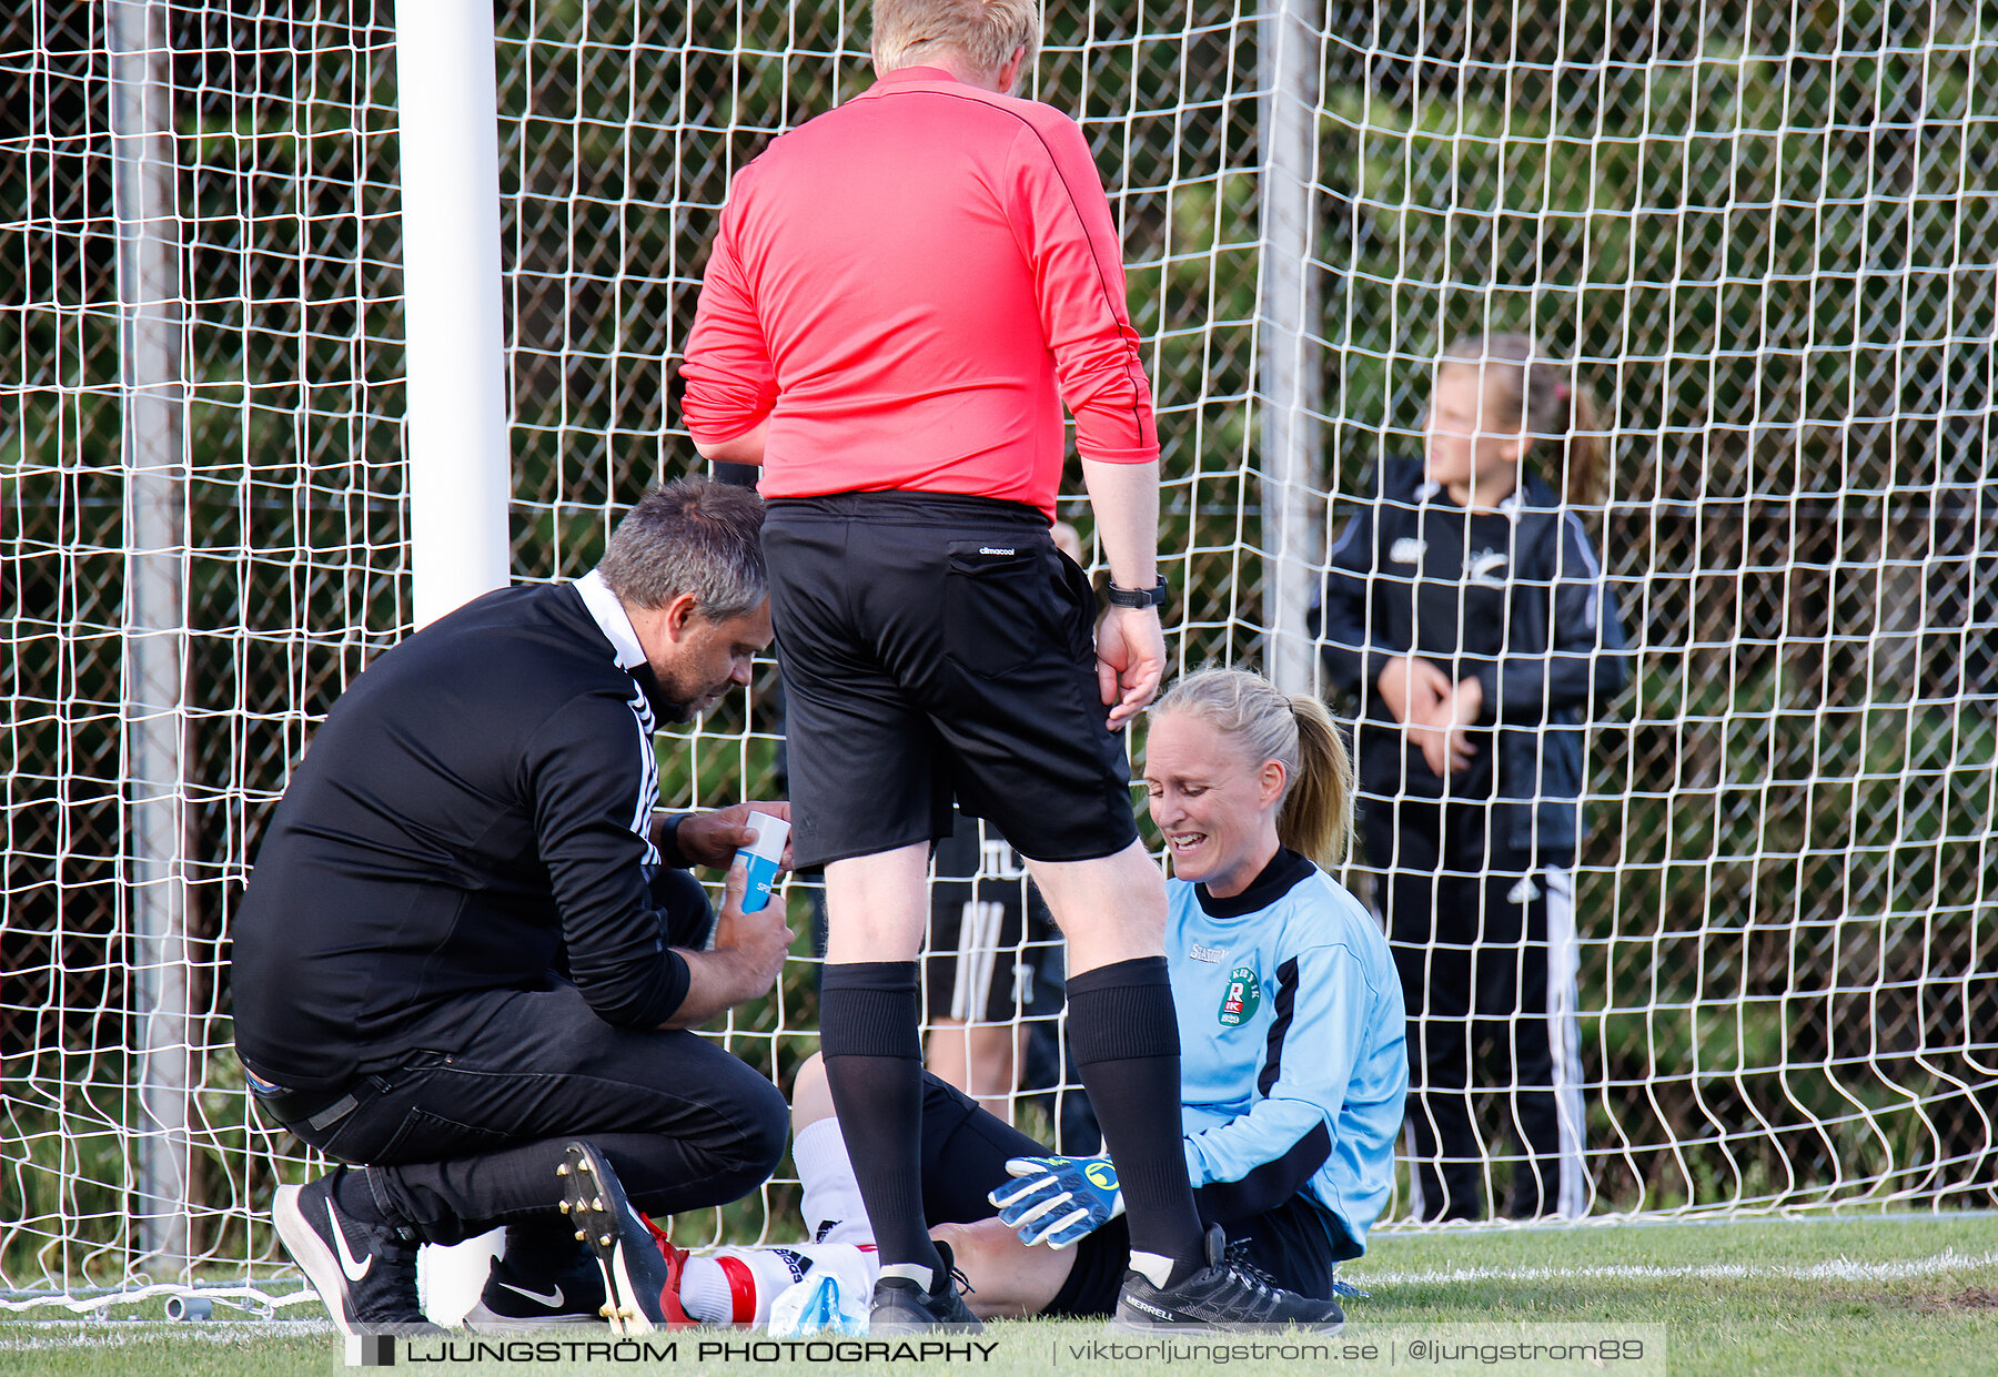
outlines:
M1125 737L1097 691L1095 594L1041 512L779 498L763 554L797 865L947 837L953 799L1037 861L1137 839Z

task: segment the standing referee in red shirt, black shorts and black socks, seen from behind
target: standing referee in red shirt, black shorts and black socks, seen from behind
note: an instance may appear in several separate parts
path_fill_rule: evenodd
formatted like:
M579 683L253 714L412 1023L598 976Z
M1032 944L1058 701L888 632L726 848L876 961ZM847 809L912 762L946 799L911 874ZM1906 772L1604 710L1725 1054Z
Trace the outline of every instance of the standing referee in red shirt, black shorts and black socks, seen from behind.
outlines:
M1035 0L875 0L875 86L735 176L681 366L701 454L763 466L793 847L825 865L825 1071L881 1247L873 1323L975 1323L919 1169L923 883L953 797L1029 859L1069 939L1071 1047L1131 1221L1119 1315L1311 1321L1225 1261L1187 1185L1165 883L1119 735L1165 670L1159 438L1089 146L1011 96L1039 38ZM1101 628L1049 538L1063 404L1111 568Z

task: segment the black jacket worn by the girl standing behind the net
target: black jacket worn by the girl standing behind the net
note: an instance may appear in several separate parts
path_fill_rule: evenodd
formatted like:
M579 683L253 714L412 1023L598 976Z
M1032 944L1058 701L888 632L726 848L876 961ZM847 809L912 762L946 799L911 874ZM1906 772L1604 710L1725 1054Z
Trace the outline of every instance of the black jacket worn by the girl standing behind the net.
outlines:
M1453 793L1495 799L1514 853L1572 855L1584 713L1630 682L1630 654L1580 518L1536 474L1520 472L1497 514L1467 514L1419 460L1383 464L1379 498L1333 546L1313 632L1331 682L1359 699L1367 793L1443 793L1379 691L1387 662L1417 654L1485 689L1481 759Z

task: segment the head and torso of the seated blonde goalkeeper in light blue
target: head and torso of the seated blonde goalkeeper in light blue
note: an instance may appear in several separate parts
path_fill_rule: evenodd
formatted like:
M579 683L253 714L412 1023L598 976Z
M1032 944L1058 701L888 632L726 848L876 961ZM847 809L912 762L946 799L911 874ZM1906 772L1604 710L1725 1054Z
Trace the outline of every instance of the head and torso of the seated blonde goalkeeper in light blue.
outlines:
M1409 1093L1395 959L1321 869L1349 847L1351 765L1317 699L1239 670L1183 680L1151 717L1187 1169L1251 1261L1285 1277L1285 1277L1299 1289L1365 1251Z

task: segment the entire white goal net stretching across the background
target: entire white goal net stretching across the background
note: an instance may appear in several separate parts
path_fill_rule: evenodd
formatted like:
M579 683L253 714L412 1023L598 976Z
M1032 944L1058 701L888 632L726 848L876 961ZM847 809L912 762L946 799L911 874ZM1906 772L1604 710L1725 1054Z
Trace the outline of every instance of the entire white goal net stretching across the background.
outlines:
M1449 340L1528 332L1602 402L1580 516L1636 670L1576 857L1588 1213L1994 1203L1990 16L1091 0L1047 26L1033 94L1097 154L1159 400L1177 666L1321 684L1309 590L1379 464L1421 454ZM292 761L414 622L394 20L28 0L0 28L26 112L0 134L0 1303L282 1289L270 1195L318 1163L246 1097L228 935ZM583 574L697 466L673 366L729 178L869 84L865 38L855 0L500 4L515 578ZM1091 562L1087 504L1061 514ZM659 757L669 805L779 795L775 666ZM1007 979L1059 961L987 929ZM801 939L713 1035L787 1085L815 971ZM959 1009L1039 1029L1059 1083L1029 985ZM1516 1147L1483 1151L1502 1183ZM795 1189L677 1227L785 1237Z

